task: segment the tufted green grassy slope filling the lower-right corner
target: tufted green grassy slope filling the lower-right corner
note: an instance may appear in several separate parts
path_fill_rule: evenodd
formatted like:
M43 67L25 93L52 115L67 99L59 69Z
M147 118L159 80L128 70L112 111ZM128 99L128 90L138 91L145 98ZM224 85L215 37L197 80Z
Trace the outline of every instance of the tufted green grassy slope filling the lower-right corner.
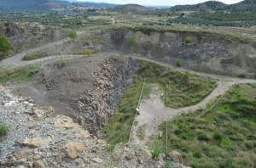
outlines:
M205 109L168 121L168 147L192 167L253 167L256 163L256 85L235 85L208 114ZM166 144L166 122L160 125ZM211 163L211 166L208 165Z

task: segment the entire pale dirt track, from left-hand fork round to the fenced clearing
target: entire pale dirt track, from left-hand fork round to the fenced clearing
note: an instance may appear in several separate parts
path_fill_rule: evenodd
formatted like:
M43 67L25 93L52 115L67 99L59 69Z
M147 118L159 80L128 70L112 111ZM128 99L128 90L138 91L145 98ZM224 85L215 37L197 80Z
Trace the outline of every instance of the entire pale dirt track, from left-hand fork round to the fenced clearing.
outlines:
M85 31L79 31L79 35L83 34ZM3 59L0 62L0 67L7 66L9 68L13 68L16 66L22 67L30 64L37 64L41 62L48 62L52 60L58 60L65 57L66 59L73 59L74 57L83 57L85 55L52 55L46 58L42 59L36 59L32 61L22 61L21 59L27 54L27 53L33 53L41 49L45 48L55 48L56 45L60 45L63 42L67 42L71 40L70 38L65 38L60 41L51 42L49 44L46 44L44 46L38 47L38 48L32 48L29 50L26 50L25 52L18 53L14 55L13 57L10 57L8 59ZM121 54L117 53L106 53L106 55L117 55L117 56L123 56ZM185 69L177 68L175 66L172 66L170 64L161 63L158 61L155 61L153 59L147 59L140 56L125 56L125 57L131 57L134 59L141 59L146 60L155 64L164 65L167 67L170 67L175 70L179 71L185 71ZM131 132L131 143L136 145L146 145L148 141L150 140L151 136L157 136L158 124L166 119L172 119L174 115L178 115L181 113L188 113L189 111L195 111L196 109L201 109L207 106L208 103L210 103L214 98L216 98L218 95L223 95L224 92L227 92L227 90L230 89L230 87L234 84L238 83L256 83L256 80L252 79L239 79L235 77L230 76L219 76L215 74L207 74L204 72L197 72L193 70L189 70L190 73L201 75L201 76L210 76L212 78L218 79L218 87L215 87L211 94L207 96L204 100L202 100L199 104L195 104L193 106L179 108L179 109L171 109L166 108L164 104L160 101L160 92L158 92L157 87L153 87L153 91L155 91L153 94L151 94L150 98L143 100L142 104L139 106L140 115L137 115L136 120L138 121L137 126L133 126L132 132ZM143 126L143 129L146 132L146 135L143 140L139 139L137 137L137 128L139 126Z

